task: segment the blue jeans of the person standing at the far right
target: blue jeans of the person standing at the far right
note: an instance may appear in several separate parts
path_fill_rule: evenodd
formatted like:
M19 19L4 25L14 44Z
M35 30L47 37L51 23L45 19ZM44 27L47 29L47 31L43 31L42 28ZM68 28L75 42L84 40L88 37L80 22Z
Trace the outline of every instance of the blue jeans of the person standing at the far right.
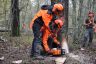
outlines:
M86 29L86 32L84 34L84 41L83 41L83 47L85 47L85 44L90 45L93 40L93 28Z

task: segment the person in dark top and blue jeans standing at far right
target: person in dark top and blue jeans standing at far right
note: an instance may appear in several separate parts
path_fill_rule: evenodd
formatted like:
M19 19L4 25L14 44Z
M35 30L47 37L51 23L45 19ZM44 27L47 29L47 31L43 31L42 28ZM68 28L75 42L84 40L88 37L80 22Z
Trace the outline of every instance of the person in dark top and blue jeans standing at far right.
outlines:
M82 48L81 50L84 50L83 47L90 46L92 44L93 41L93 32L94 32L94 25L95 25L95 20L94 20L94 13L93 12L89 12L88 13L88 19L85 20L85 27L86 27L86 32L84 34L84 41L82 44Z

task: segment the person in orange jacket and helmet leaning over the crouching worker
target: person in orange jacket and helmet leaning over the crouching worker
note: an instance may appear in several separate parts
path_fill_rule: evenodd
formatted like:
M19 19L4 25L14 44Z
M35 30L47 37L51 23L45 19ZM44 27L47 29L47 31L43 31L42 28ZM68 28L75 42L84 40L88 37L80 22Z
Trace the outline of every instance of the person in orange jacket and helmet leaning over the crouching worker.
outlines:
M42 31L40 31L41 27L45 25L46 29L51 32L49 24L56 19L56 15L59 15L63 10L62 4L54 4L53 6L42 6L41 9L34 16L32 21L30 22L30 29L33 30L34 39L32 43L31 56L38 56L40 53L36 48L39 44L41 44L41 35Z

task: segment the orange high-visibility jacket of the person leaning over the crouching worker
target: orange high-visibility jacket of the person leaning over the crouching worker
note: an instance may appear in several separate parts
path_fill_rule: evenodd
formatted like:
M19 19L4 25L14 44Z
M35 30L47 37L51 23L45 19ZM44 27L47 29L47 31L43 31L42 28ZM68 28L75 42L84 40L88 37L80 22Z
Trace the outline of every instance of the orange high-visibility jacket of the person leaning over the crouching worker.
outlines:
M30 22L30 29L32 29L32 26L35 20L38 19L38 17L42 17L44 25L49 29L49 23L51 22L53 16L51 14L48 14L48 10L42 10L42 9L37 12L37 14L34 16L32 21Z

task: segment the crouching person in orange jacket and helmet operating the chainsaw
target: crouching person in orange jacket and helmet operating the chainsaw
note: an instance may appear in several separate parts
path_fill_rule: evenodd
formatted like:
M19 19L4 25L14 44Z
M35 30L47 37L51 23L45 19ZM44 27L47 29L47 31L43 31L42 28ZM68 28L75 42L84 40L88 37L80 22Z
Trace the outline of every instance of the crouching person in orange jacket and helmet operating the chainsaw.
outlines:
M61 50L53 50L51 49L49 44L52 44L52 42L48 42L48 38L52 38L54 40L54 43L57 44L57 46L60 47L60 42L57 40L57 32L62 28L63 26L63 21L60 19L57 19L54 21L53 24L53 32L50 32L46 27L43 28L44 32L43 32L43 37L42 37L42 41L43 41L43 47L44 50L49 53L49 54L53 54L53 55L60 55L61 54ZM52 45L51 45L52 46Z

